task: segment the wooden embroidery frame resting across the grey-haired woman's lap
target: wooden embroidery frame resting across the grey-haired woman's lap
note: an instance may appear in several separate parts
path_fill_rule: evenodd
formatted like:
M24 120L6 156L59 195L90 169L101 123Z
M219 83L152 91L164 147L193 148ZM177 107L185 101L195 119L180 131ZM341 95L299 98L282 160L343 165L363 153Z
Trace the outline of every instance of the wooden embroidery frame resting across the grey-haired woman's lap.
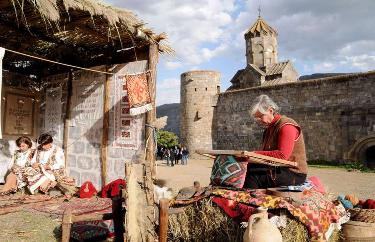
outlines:
M195 153L204 155L210 158L216 158L217 155L236 155L245 157L249 163L254 164L266 164L270 166L286 166L286 167L298 167L297 162L282 160L266 155L255 154L250 151L227 151L227 150L211 150L211 149L197 149Z

